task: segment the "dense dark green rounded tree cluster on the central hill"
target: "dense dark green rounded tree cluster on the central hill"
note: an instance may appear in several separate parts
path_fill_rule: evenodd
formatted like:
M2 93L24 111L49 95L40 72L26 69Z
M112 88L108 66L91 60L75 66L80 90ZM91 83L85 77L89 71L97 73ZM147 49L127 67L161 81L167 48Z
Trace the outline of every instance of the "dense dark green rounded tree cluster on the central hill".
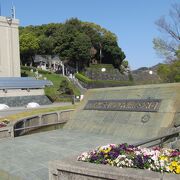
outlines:
M22 62L35 54L56 54L65 63L78 66L81 70L94 59L98 63L113 64L120 68L126 57L114 33L77 18L63 24L27 26L19 30Z

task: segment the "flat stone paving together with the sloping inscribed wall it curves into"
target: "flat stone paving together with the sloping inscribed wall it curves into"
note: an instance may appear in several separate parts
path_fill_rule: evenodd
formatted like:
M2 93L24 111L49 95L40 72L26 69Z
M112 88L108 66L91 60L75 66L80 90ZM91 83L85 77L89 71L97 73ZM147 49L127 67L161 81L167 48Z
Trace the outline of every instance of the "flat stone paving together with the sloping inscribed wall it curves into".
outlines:
M47 179L48 161L76 156L108 143L137 143L156 137L173 125L180 108L180 84L161 84L122 88L94 89L76 109L72 119L51 132L0 140L0 169L24 179ZM147 112L83 110L91 99L160 98L159 111ZM142 172L144 173L144 171Z

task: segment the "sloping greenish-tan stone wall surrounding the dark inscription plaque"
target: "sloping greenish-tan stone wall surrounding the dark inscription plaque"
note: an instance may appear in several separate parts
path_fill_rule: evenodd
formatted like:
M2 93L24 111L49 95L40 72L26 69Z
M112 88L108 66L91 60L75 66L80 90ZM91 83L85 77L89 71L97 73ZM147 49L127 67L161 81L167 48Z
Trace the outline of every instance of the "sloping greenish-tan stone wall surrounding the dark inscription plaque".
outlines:
M180 112L180 83L116 87L88 90L72 120L64 129L83 131L97 135L119 138L119 143L137 143L167 133L167 129L177 126ZM114 104L103 104L105 109L85 110L88 101L109 100L156 100L160 99L157 112L136 109L111 110ZM96 106L98 104L96 103ZM106 110L109 108L109 110ZM177 114L175 116L175 114ZM176 122L176 123L175 123ZM111 142L113 143L113 142Z

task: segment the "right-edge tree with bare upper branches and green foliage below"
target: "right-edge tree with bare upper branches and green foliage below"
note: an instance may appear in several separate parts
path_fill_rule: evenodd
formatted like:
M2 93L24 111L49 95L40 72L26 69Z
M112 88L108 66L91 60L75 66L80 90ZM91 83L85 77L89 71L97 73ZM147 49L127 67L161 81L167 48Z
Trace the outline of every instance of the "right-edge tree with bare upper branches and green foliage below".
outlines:
M166 60L157 72L163 82L180 82L180 4L173 4L168 18L161 17L156 25L164 36L154 38L154 48Z

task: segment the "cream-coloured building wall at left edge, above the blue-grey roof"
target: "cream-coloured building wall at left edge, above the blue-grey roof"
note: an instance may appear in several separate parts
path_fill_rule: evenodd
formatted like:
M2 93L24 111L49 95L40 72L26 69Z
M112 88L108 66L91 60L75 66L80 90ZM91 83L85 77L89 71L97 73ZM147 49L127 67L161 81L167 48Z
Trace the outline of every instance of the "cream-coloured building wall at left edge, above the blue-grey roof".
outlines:
M19 20L0 16L0 77L20 77Z

